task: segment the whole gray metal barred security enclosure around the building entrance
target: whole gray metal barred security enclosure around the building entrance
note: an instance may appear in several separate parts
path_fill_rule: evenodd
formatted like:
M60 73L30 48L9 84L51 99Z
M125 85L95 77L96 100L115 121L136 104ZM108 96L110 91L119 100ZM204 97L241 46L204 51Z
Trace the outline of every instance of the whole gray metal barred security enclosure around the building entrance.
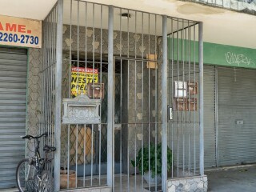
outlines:
M195 26L202 31L202 25L76 0L59 0L45 24L42 123L48 130L54 128L54 145L59 149L54 155L55 190L107 185L114 191L166 191L167 170L173 176L170 156L175 154L167 135L167 36L177 32L195 37ZM202 35L193 38L197 40L197 53L202 53ZM200 70L188 70L194 73L194 83L202 81L198 78L202 54L199 58ZM201 95L202 89L198 89ZM47 108L46 102L54 108ZM196 118L192 123L199 132L198 113ZM199 133L203 141L203 132ZM200 165L202 144L196 149L202 154ZM143 164L142 156L148 164ZM203 174L203 166L200 170ZM150 172L160 179L146 182ZM63 179L67 182L62 186Z

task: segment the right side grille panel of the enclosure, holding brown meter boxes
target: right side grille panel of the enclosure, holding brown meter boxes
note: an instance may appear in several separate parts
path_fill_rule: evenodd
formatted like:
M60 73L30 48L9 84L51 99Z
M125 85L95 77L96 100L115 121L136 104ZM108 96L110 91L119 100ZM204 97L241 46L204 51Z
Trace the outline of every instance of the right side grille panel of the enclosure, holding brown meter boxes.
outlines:
M173 119L169 121L169 146L173 164L170 177L198 174L199 69L198 23L169 18L168 94Z

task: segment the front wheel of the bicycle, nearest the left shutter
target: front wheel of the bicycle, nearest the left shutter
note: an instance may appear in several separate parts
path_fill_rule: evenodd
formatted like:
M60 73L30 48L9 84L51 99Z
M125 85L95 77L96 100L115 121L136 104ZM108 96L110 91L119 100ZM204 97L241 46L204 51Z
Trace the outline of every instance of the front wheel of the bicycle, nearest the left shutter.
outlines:
M30 167L30 169L29 169ZM16 170L16 182L21 192L38 191L38 178L35 166L30 165L29 159L24 158L18 163Z

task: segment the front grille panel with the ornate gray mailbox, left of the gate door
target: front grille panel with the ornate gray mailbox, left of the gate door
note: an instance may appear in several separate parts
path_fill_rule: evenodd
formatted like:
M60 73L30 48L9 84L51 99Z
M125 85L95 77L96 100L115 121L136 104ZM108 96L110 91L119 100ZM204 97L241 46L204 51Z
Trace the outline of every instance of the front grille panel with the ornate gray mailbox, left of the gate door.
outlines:
M75 179L66 179L63 189L106 185L107 160L107 98L108 62L107 55L107 13L108 7L90 2L66 0L63 26L63 68L62 98L75 98L72 83L72 68L98 70L98 76L91 74L91 82L103 83L104 98L101 98L99 124L62 125L62 160L66 170L64 178L70 178L71 170ZM79 77L81 73L76 75ZM90 74L85 73L88 78ZM77 83L77 82L76 82ZM84 83L84 93L89 93L88 81ZM79 89L75 88L79 94ZM93 101L93 99L91 100ZM62 177L63 178L63 177ZM62 182L62 181L61 181Z

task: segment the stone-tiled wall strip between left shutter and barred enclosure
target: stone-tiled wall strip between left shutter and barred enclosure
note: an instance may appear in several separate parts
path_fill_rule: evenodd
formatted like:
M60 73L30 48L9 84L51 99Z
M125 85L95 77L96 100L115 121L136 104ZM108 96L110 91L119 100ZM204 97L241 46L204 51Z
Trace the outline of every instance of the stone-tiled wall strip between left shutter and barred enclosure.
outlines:
M38 134L42 70L42 49L30 48L28 50L28 77L27 77L27 110L26 110L26 134ZM28 142L26 154L34 152L34 143Z

